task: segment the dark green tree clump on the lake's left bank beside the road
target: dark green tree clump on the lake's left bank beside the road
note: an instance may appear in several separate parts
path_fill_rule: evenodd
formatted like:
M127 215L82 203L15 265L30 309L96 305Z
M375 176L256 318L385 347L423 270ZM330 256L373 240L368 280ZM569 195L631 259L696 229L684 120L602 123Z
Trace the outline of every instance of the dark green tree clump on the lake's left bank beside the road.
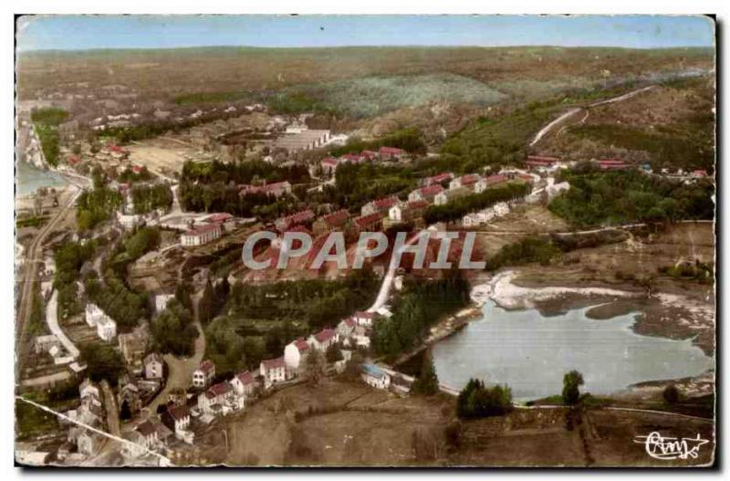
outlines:
M469 282L460 271L440 280L414 283L397 299L391 318L375 323L372 347L385 356L411 350L441 316L468 302Z

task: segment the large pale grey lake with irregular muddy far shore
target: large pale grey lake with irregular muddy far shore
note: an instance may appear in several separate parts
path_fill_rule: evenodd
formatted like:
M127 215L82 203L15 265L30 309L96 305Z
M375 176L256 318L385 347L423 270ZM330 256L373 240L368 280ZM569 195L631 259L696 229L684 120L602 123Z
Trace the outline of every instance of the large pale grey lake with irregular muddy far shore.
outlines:
M470 377L506 383L517 401L562 390L563 374L583 374L582 392L609 394L642 381L676 379L714 367L691 340L641 336L631 330L638 313L589 319L580 308L558 316L537 309L505 310L487 300L484 318L433 346L439 381L456 389Z

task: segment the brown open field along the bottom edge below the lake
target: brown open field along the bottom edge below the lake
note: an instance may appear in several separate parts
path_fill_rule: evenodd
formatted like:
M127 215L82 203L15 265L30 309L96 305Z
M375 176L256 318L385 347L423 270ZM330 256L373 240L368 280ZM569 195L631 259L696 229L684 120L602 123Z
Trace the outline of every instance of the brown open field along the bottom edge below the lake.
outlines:
M288 387L246 413L215 422L199 454L226 465L701 465L697 459L658 461L635 436L712 440L712 424L666 414L565 409L516 409L462 424L461 443L449 448L443 430L455 421L454 398L401 398L358 382L327 379ZM225 430L225 434L222 433ZM414 449L419 432L431 449ZM223 449L227 438L228 449Z

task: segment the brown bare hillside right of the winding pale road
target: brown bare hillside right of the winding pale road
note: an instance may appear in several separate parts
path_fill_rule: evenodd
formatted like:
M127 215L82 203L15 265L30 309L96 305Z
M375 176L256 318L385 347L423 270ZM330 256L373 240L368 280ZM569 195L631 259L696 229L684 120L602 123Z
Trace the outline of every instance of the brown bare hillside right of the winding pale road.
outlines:
M714 170L714 79L664 82L632 99L589 109L539 152L568 160L621 157L668 168Z

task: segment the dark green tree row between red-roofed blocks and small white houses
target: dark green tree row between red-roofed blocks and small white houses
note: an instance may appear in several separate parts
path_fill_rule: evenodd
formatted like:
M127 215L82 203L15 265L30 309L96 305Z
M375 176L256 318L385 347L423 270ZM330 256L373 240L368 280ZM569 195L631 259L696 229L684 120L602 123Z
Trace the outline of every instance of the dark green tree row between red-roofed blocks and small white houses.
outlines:
M431 205L423 213L426 224L459 221L465 214L480 211L500 202L518 199L530 192L528 183L507 183L502 187L485 190L483 193L466 195L449 201L448 204Z

